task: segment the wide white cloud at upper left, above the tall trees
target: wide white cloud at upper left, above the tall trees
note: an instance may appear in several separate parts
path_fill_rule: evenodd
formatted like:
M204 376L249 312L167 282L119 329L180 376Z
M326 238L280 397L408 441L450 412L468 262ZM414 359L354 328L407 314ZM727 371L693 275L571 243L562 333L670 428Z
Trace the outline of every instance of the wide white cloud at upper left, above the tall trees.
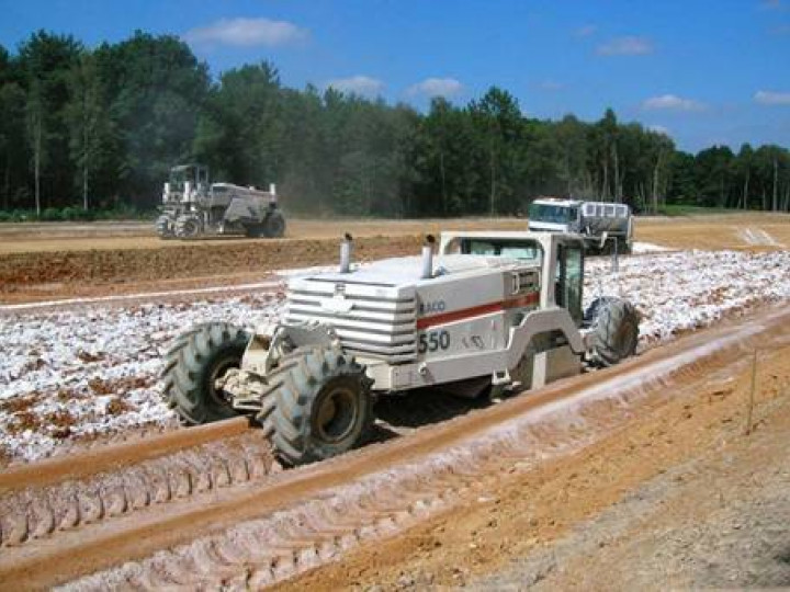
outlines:
M307 30L287 21L269 19L219 19L207 26L188 31L184 39L195 45L233 45L274 47L287 45L307 37Z

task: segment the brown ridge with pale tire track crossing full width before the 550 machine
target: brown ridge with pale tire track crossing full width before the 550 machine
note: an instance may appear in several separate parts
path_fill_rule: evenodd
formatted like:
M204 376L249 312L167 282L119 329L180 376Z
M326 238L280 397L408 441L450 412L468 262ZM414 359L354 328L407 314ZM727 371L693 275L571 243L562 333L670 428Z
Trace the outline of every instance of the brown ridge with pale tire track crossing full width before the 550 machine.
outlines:
M280 474L264 488L227 488L33 542L25 553L7 549L0 581L50 587L131 559L138 561L76 585L244 589L281 581L484 492L501 470L523 470L611 433L644 401L666 400L757 342L787 343L789 320L774 312L692 335L616 368Z

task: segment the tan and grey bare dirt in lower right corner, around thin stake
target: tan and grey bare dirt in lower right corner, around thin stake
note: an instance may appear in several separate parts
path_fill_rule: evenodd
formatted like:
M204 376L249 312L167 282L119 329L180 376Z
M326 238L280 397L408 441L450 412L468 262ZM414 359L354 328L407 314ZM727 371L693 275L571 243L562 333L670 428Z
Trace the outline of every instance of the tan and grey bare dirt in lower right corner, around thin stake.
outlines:
M706 369L587 448L515 460L465 508L280 589L790 585L790 348L760 354L748 436L748 356Z

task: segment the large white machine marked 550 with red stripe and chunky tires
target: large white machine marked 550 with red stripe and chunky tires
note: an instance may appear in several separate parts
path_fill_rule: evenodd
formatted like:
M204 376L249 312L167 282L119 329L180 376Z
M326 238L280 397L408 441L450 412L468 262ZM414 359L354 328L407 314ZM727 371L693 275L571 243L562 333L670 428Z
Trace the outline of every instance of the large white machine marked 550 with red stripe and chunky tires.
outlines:
M598 298L583 314L580 237L445 232L435 249L354 265L347 236L337 272L291 281L282 322L178 338L163 396L187 424L248 414L301 465L362 442L380 396L518 391L633 355L632 305Z

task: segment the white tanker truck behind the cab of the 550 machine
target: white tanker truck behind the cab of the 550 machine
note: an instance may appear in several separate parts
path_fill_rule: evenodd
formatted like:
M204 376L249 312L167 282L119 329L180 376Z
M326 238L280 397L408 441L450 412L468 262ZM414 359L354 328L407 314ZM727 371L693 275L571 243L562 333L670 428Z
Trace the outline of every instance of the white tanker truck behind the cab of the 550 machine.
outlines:
M528 224L535 232L580 235L588 254L631 252L633 217L625 204L540 197L530 204Z

